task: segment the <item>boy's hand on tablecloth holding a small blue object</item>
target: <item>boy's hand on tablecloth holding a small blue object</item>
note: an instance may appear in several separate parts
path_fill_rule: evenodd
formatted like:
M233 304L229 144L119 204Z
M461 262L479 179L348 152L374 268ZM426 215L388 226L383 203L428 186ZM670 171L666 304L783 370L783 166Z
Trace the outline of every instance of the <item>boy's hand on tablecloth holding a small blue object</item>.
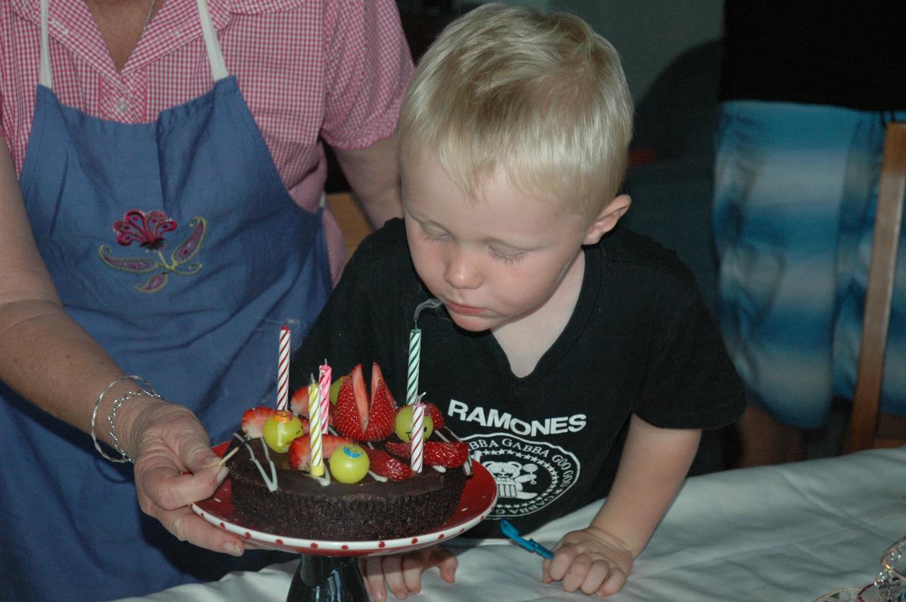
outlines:
M589 527L566 533L554 547L554 559L542 564L542 581L563 581L566 591L610 596L632 570L632 554L606 531Z

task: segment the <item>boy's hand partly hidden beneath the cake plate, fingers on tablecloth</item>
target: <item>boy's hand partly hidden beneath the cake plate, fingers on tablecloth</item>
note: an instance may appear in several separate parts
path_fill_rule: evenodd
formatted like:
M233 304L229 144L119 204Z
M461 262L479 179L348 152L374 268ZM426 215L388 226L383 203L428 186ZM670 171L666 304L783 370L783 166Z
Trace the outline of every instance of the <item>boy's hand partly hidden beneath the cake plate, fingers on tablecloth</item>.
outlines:
M361 574L371 597L375 600L387 598L387 589L397 599L405 599L410 594L421 591L421 573L425 569L438 567L440 577L453 583L456 577L458 561L442 546L429 546L405 554L390 556L372 556L361 562Z

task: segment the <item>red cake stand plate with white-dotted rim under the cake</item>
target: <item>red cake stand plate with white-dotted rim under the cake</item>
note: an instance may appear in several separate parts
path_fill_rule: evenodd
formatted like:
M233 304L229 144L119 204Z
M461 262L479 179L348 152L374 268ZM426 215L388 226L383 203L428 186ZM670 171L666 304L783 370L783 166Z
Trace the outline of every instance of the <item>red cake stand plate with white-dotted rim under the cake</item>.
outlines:
M217 455L223 455L229 442L216 445ZM230 501L232 485L227 477L214 495L203 502L188 504L192 511L212 525L248 540L258 548L280 549L286 552L318 554L323 556L377 556L419 549L465 533L487 518L497 501L497 485L491 473L472 461L472 478L459 497L457 510L439 529L431 533L417 533L396 540L372 541L322 541L285 537L274 533L249 529L232 521L233 504Z

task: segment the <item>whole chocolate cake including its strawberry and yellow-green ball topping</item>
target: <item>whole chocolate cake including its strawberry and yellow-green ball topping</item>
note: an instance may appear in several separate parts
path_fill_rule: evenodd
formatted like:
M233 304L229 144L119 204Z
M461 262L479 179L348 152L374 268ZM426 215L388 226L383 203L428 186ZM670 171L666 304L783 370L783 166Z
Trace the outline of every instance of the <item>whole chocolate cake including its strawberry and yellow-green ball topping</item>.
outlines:
M361 365L334 382L323 475L313 470L308 394L291 411L254 407L227 453L234 520L284 537L325 541L390 540L438 530L456 510L471 475L466 443L426 404L423 466L410 468L411 406L397 407L381 368L371 395Z

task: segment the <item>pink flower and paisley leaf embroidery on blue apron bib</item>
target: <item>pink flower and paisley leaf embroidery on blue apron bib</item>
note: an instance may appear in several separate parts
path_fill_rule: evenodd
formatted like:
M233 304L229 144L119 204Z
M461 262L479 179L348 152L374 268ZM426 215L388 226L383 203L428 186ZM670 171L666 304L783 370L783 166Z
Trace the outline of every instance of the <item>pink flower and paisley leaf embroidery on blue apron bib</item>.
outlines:
M116 240L122 246L139 243L145 253L157 253L157 257L113 257L111 248L101 244L98 254L101 261L115 270L146 274L150 273L147 281L136 284L139 292L157 292L166 286L170 273L180 276L191 276L201 270L201 263L189 263L201 250L207 234L207 221L204 217L196 215L188 222L190 232L188 236L169 253L169 260L164 256L163 249L167 245L164 234L175 232L177 223L169 219L162 211L149 211L147 214L139 209L130 209L122 219L113 225ZM153 273L151 273L153 272Z

